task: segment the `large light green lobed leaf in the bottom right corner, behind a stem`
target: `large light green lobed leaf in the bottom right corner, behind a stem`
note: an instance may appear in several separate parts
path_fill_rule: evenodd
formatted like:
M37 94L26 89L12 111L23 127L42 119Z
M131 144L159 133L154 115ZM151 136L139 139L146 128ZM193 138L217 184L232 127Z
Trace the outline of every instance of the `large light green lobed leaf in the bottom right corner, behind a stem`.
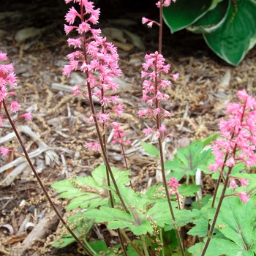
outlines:
M232 193L227 189L227 194ZM214 237L211 238L206 256L242 255L253 256L256 252L256 200L251 198L246 204L239 197L227 197L219 211ZM208 208L207 213L211 210ZM212 209L214 210L214 209ZM212 211L211 210L211 211ZM212 215L212 214L211 214ZM204 217L204 218L203 218ZM197 218L195 227L189 230L190 235L206 236L206 216ZM210 217L212 219L212 216ZM205 227L205 228L204 228ZM206 238L204 239L206 241ZM193 256L201 255L204 243L189 248Z

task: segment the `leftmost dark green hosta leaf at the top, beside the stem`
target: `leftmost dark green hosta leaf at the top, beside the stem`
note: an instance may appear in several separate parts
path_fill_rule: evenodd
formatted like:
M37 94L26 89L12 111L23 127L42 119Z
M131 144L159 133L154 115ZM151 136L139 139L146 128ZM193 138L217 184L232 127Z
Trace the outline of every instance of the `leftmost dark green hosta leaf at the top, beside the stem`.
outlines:
M163 18L171 33L195 23L208 12L212 0L178 0L163 8Z

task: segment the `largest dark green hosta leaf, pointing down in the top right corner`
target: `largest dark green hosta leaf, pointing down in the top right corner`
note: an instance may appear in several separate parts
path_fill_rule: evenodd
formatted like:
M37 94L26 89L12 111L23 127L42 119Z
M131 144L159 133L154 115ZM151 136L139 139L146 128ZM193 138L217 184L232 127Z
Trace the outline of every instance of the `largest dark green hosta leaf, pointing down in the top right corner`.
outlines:
M236 66L256 43L256 1L231 2L223 25L203 37L214 53Z

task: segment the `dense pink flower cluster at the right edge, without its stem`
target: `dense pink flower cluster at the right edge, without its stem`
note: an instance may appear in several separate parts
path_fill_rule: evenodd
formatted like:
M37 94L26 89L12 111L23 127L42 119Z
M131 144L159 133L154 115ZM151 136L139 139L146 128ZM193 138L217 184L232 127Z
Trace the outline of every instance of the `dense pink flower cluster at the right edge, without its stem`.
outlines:
M241 103L230 102L227 105L226 113L229 118L219 121L222 138L217 139L212 147L215 162L208 169L221 174L225 167L232 169L241 162L248 169L256 164L256 99L248 95L246 90L238 91L237 96ZM233 177L231 173L231 189L238 187L236 179L242 187L248 184L246 179ZM244 202L244 195L240 197Z

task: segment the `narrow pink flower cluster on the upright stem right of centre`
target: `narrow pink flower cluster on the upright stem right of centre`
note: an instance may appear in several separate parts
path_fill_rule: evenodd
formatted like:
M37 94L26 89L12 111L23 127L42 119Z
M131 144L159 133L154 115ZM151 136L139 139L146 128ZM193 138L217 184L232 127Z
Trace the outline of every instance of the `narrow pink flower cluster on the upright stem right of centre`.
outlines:
M146 54L146 62L143 63L143 71L141 72L141 78L147 78L143 81L143 97L142 101L146 102L150 106L154 106L154 110L146 109L139 110L139 117L152 116L155 120L160 120L164 116L172 116L170 112L161 108L161 101L169 99L169 95L162 92L162 89L170 87L170 80L161 78L161 75L167 74L170 70L170 64L165 64L165 59L162 54L157 51L155 53ZM178 74L171 74L173 79L178 79ZM149 135L151 132L156 132L157 138L166 138L164 136L165 126L161 125L156 129L143 129L145 135Z

